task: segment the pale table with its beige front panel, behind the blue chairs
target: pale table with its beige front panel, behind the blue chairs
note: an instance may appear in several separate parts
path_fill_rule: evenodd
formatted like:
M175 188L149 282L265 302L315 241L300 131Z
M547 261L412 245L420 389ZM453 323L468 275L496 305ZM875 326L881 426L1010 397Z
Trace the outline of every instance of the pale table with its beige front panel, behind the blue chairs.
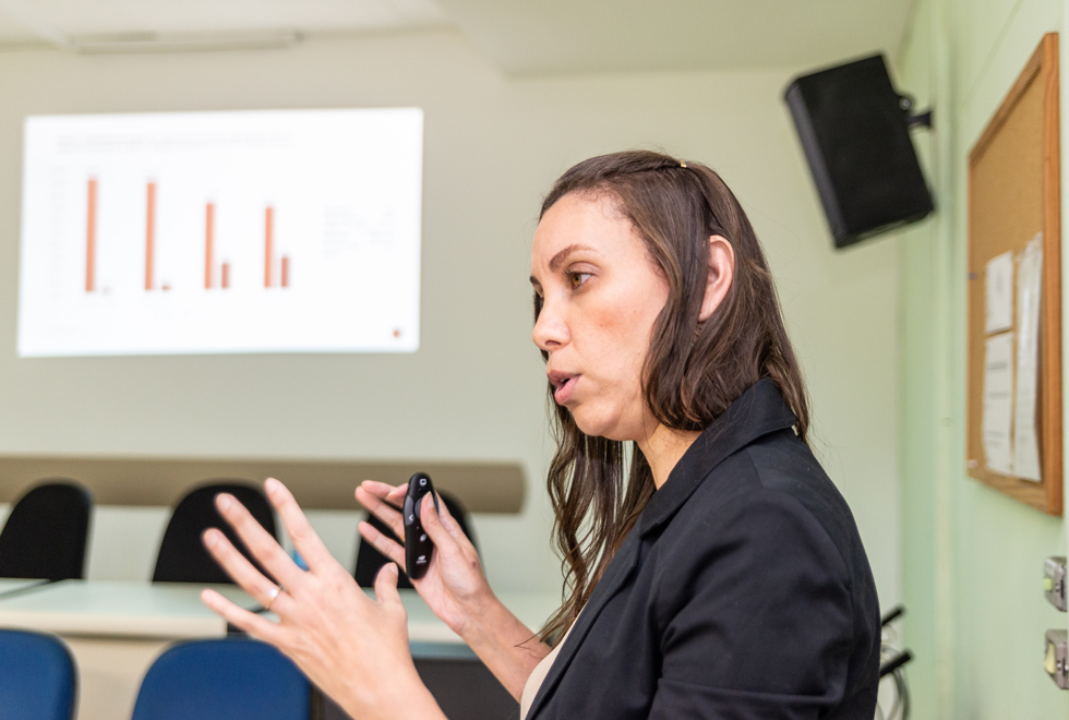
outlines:
M79 720L122 720L133 713L142 677L168 646L226 635L226 621L200 600L204 587L122 580L27 586L21 592L0 595L0 627L45 631L62 637L79 664ZM259 607L237 586L208 587L242 607ZM470 656L459 636L434 616L415 590L401 590L400 595L408 611L413 653ZM540 628L560 603L553 593L502 592L499 598L532 631Z

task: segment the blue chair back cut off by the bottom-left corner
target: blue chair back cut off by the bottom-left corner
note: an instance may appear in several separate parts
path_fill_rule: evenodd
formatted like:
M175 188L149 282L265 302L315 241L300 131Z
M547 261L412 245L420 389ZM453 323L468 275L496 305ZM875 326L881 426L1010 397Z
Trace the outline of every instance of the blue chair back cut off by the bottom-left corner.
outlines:
M0 718L72 720L77 669L55 635L0 629Z

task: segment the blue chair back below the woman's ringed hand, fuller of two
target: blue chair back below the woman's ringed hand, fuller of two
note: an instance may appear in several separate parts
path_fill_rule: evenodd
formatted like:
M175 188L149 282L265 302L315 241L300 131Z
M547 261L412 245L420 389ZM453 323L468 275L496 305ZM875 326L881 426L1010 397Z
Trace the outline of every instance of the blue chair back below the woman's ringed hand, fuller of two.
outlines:
M269 645L193 640L148 669L133 720L309 720L310 697L301 671Z

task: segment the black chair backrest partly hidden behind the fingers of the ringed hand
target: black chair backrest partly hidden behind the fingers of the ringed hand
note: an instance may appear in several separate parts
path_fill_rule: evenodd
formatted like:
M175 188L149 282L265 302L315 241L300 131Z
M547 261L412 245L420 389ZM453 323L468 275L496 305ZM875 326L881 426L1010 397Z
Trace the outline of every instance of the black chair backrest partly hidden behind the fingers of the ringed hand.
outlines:
M271 577L260 563L252 560L244 543L215 508L215 496L220 492L237 497L272 537L278 537L271 505L257 485L240 480L212 481L192 490L175 507L164 532L164 540L159 543L153 583L232 583L201 541L201 535L207 528L223 530L260 572Z

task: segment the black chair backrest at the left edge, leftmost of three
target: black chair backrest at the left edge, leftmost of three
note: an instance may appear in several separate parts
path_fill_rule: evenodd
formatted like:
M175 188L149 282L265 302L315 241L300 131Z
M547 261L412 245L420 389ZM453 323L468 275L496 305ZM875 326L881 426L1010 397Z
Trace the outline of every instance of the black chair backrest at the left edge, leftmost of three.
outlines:
M23 495L0 531L0 577L81 579L93 495L73 480L49 480Z

